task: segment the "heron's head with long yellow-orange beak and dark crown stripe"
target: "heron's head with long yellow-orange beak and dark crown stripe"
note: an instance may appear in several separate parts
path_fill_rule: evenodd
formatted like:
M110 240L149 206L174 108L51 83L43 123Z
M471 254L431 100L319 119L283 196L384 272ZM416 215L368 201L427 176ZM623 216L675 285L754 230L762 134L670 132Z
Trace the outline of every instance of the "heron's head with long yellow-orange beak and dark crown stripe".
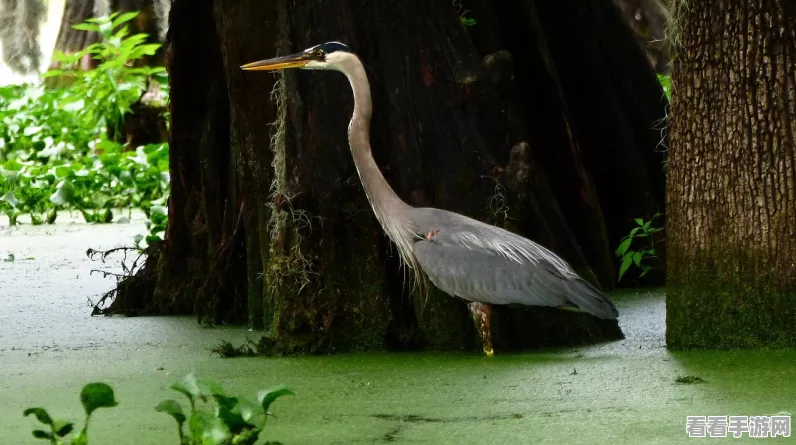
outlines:
M326 42L304 51L273 59L247 63L240 68L247 71L280 71L288 68L304 70L337 70L353 56L351 48L340 42Z

